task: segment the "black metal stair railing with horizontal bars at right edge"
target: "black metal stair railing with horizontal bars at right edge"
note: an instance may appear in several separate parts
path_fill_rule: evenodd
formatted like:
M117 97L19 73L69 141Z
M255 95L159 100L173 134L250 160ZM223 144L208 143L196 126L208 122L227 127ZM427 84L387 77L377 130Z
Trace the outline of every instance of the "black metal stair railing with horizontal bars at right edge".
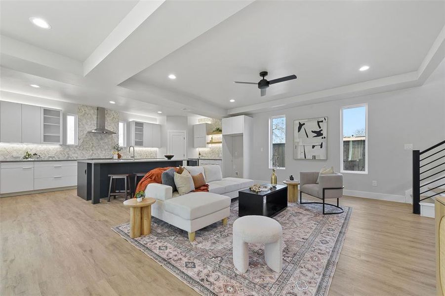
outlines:
M420 202L422 200L445 193L445 190L443 190L442 192L440 190L439 192L434 191L437 188L445 186L445 183L441 185L434 185L435 187L433 188L426 187L434 182L445 179L445 175L433 180L430 179L445 172L445 159L443 159L445 155L438 155L436 156L436 158L430 158L444 150L445 140L423 151L412 150L412 212L414 214L420 214ZM425 154L430 151L430 154ZM428 160L428 162L426 162L426 160ZM426 166L429 167L425 168ZM422 168L424 169L422 170ZM434 169L437 169L436 172L433 171ZM431 181L428 181L429 179ZM425 181L425 183L423 185L420 185L420 182L422 181ZM422 194L425 194L427 192L432 192L435 194L429 195L428 197L420 198Z

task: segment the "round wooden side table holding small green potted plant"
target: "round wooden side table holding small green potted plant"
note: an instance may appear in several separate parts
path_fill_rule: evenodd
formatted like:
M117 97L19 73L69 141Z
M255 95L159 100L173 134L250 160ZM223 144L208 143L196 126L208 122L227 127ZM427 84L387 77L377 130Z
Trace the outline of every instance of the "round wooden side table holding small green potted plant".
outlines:
M146 197L141 202L136 198L123 202L130 208L130 237L148 235L152 232L152 204L156 202L153 197Z

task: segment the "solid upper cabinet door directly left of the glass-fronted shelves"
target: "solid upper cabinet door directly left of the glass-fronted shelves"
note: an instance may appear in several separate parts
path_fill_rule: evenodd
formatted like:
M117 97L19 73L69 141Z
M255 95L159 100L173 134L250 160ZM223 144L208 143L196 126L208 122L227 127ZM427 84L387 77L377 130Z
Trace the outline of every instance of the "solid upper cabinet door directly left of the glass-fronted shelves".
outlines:
M39 106L22 105L22 143L40 144L41 111Z

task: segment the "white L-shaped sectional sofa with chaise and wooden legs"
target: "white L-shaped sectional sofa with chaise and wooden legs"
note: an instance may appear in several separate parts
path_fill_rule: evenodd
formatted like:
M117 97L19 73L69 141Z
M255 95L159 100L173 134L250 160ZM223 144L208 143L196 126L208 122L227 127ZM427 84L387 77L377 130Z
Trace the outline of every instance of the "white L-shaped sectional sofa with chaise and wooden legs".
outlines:
M189 192L179 195L172 187L149 184L146 196L156 198L152 205L152 216L188 232L189 240L195 240L195 231L222 221L227 223L230 216L231 198L238 197L238 191L253 184L253 180L222 178L219 165L185 167L192 175L203 173L209 192Z

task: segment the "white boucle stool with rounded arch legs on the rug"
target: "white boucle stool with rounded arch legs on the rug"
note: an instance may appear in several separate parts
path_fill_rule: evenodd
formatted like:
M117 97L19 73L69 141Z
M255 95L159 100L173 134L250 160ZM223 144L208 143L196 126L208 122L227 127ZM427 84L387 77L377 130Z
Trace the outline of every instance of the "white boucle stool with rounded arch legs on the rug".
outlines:
M246 272L249 268L249 243L264 244L266 264L274 271L283 268L283 228L280 223L264 216L244 216L233 223L233 263Z

